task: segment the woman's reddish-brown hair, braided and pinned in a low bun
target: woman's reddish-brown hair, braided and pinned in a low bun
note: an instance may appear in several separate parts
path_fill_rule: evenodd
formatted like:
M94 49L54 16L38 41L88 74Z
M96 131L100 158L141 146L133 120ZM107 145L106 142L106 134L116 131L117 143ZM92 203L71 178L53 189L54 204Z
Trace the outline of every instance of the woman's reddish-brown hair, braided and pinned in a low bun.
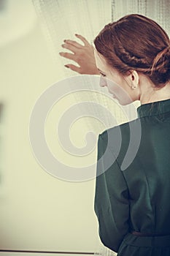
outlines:
M136 70L147 75L156 87L170 81L169 37L150 18L125 15L104 26L94 45L107 64L122 75Z

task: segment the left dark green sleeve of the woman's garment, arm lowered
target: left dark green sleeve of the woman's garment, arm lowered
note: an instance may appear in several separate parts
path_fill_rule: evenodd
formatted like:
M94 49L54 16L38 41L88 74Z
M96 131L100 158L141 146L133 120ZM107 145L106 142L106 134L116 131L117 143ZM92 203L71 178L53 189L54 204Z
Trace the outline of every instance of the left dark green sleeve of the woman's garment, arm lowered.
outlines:
M129 231L128 187L117 159L107 146L105 133L98 135L94 211L98 219L101 242L117 252ZM110 159L112 164L108 167Z

